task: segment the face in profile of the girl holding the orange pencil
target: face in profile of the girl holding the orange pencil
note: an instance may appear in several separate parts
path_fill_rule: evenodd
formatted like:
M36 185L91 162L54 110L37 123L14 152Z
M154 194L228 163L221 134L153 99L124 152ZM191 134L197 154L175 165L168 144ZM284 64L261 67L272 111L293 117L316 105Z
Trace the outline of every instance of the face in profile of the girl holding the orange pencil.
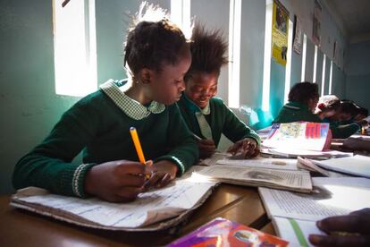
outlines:
M152 71L150 98L167 106L178 101L185 89L184 75L190 64L191 56L188 53L181 57L177 64L164 64L161 71Z

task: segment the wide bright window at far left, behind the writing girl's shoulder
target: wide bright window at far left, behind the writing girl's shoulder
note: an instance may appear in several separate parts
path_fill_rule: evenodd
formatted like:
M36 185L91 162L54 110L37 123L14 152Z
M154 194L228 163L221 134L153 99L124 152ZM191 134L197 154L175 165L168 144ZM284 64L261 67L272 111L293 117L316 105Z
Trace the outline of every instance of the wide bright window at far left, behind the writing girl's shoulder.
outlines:
M95 1L53 1L55 93L85 96L97 89Z

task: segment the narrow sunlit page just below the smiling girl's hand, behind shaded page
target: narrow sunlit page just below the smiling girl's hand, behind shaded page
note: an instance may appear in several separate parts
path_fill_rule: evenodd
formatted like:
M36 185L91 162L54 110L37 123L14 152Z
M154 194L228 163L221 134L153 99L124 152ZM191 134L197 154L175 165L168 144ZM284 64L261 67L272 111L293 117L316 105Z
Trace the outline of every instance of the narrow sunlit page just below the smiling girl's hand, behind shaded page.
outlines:
M251 159L223 158L218 160L216 164L226 166L243 166L243 167L268 168L279 170L298 170L297 159L293 158L262 158L262 157Z

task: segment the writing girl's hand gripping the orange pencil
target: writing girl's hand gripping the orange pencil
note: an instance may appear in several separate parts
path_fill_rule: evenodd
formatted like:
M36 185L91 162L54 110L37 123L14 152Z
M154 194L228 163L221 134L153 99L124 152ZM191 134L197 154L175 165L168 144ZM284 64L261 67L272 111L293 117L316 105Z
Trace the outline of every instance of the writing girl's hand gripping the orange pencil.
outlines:
M116 160L93 166L85 177L85 192L108 201L135 200L144 191L145 166Z

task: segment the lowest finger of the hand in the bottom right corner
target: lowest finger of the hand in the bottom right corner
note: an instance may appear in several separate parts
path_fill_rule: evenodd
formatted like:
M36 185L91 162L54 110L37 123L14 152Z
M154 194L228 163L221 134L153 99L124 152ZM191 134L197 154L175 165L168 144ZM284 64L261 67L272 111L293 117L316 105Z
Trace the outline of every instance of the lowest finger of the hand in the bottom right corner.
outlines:
M309 242L316 246L369 246L368 236L357 235L316 235L308 236Z

